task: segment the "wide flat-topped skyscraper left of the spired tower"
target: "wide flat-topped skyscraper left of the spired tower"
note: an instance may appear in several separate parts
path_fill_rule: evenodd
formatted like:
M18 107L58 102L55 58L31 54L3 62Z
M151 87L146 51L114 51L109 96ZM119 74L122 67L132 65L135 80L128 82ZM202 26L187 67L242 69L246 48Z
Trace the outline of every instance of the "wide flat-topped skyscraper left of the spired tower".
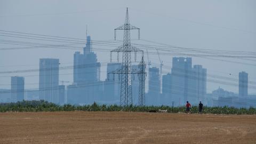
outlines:
M59 59L39 60L39 99L59 103Z

